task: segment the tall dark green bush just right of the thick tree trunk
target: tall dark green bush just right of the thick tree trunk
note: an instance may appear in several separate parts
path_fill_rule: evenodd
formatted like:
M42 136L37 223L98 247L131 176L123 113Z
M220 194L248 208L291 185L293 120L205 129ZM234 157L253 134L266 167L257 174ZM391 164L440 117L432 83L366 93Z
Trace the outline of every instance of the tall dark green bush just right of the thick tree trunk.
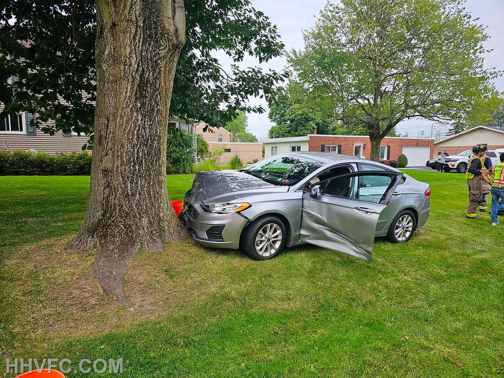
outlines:
M184 130L168 129L166 139L166 173L192 173L194 170L194 140Z

